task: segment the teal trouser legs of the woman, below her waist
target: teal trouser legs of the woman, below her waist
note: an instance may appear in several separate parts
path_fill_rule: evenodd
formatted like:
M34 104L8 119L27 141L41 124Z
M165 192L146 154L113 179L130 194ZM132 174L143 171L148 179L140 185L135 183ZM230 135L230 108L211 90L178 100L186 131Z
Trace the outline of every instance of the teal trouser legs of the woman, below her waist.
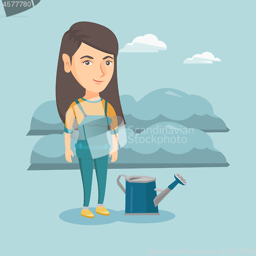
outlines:
M78 158L78 160L83 184L83 206L88 207L90 203L93 180L93 163L98 182L98 204L103 204L106 188L106 174L108 171L108 155L96 159Z

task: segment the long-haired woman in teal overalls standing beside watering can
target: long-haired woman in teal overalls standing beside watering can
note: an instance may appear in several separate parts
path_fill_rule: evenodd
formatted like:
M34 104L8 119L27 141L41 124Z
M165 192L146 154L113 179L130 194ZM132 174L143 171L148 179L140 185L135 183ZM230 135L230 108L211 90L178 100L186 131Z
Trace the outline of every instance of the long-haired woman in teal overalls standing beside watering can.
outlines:
M117 54L115 34L91 22L71 26L63 35L60 46L56 102L59 116L65 123L65 157L68 162L74 157L70 147L74 121L78 126L75 146L84 194L81 216L87 218L94 218L89 210L93 164L98 181L96 213L110 215L103 206L108 157L112 157L111 162L116 161L118 125L125 124L117 84ZM108 129L112 143L106 135Z

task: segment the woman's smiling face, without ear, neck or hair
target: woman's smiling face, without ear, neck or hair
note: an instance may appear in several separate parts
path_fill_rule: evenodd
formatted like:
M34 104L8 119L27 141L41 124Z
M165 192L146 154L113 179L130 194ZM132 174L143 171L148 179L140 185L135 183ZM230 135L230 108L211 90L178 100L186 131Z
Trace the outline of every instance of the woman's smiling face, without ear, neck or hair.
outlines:
M114 55L101 52L82 42L72 57L70 70L81 86L91 92L102 92L114 72Z

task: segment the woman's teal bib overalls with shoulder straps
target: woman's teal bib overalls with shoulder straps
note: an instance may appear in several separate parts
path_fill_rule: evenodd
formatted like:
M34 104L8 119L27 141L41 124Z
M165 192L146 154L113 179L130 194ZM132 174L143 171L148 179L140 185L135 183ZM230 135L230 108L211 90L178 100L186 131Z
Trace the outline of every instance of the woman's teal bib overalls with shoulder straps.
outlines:
M102 99L93 102L96 103L101 100ZM108 170L109 149L111 147L108 142L106 131L112 119L106 116L108 108L107 101L105 101L104 116L87 115L80 105L80 102L77 99L75 102L84 116L82 122L78 124L79 136L75 147L83 184L84 200L82 208L88 209L93 179L93 163L98 182L97 206L103 206L106 187L106 174Z

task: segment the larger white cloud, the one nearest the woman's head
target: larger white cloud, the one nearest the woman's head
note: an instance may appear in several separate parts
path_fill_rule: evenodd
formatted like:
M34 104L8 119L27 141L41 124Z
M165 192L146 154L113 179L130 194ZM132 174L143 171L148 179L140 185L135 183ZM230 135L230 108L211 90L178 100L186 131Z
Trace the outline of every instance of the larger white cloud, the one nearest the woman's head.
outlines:
M133 42L129 42L119 52L158 52L166 50L167 47L163 41L159 41L153 34L137 36Z

